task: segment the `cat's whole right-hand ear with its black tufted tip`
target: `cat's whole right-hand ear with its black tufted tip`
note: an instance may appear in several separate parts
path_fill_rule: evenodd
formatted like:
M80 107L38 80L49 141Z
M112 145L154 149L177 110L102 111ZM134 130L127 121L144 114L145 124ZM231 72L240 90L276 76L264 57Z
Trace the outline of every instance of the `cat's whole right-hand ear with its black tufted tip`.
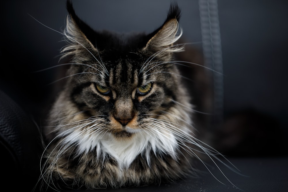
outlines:
M168 16L161 27L147 36L147 44L144 50L152 50L160 54L170 54L171 52L183 51L183 47L178 47L174 43L181 37L182 30L178 33L180 19L180 8L171 4Z

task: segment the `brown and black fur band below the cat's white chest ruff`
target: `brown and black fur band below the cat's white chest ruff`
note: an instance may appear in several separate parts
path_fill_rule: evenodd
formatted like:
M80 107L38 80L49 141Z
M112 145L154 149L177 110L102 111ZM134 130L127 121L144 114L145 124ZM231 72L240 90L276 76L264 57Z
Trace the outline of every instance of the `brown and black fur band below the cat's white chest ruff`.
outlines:
M186 157L181 153L185 153L184 149L179 151L178 158L185 159ZM187 169L191 166L189 164L189 161L192 162L191 158L180 163L180 161L175 161L175 159L165 154L151 153L151 163L147 164L147 161L139 155L130 167L122 170L120 174L117 161L113 157L105 158L102 161L95 157L94 152L90 152L68 161L67 158L72 154L73 150L67 150L58 159L57 168L52 167L52 169L55 169L54 172L58 173L54 175L56 178L63 179L64 182L71 185L73 183L79 188L81 188L79 183L83 183L88 189L159 184L160 182L175 181L179 177L191 173L191 170ZM67 162L70 163L67 164Z

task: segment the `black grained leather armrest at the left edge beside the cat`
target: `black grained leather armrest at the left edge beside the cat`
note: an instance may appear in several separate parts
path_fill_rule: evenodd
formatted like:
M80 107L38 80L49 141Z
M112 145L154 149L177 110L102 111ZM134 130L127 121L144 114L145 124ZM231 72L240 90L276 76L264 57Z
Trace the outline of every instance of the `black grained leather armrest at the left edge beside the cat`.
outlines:
M0 90L2 186L32 191L39 178L39 136L32 118Z

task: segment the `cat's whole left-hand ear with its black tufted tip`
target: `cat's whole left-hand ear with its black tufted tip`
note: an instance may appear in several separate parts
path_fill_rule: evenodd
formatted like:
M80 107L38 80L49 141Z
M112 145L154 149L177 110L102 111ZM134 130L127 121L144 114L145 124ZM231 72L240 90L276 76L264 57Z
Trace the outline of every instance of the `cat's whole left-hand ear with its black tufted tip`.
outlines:
M69 45L62 50L65 53L63 57L87 49L96 50L94 45L96 32L76 15L72 2L69 0L67 0L67 11L68 16L64 34Z

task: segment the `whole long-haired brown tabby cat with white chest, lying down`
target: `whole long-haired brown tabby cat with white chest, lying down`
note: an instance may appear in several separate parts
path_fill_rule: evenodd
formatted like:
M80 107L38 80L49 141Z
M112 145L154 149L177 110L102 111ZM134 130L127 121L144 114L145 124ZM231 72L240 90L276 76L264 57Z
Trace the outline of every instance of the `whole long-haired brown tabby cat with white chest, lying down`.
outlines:
M58 189L141 186L191 173L198 154L191 95L173 57L180 9L150 34L94 31L67 1L67 81L43 128L43 183ZM180 31L180 33L179 33Z

